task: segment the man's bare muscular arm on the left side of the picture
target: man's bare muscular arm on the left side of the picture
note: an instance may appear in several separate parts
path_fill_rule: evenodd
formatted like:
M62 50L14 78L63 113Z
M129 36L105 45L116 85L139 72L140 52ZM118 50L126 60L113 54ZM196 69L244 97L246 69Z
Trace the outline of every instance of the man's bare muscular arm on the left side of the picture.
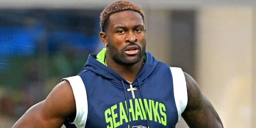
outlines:
M60 128L75 113L74 94L69 82L64 80L45 100L28 109L12 128Z

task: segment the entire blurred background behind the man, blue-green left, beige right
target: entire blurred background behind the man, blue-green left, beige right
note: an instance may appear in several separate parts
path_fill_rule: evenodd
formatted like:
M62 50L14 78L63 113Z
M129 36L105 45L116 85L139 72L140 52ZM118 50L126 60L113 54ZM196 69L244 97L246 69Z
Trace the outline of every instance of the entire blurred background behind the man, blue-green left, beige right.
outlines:
M183 68L225 128L256 126L255 0L130 0L145 12L147 51ZM0 127L10 128L103 44L114 0L0 0ZM177 128L188 128L182 120Z

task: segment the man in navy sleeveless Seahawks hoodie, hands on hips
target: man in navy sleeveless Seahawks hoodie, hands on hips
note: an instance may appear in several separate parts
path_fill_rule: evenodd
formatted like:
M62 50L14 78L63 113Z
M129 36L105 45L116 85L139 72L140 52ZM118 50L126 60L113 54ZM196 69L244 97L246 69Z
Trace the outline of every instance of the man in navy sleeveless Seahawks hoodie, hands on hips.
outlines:
M118 1L101 16L106 46L84 70L64 78L13 128L223 128L198 84L180 68L158 62L146 49L144 13Z

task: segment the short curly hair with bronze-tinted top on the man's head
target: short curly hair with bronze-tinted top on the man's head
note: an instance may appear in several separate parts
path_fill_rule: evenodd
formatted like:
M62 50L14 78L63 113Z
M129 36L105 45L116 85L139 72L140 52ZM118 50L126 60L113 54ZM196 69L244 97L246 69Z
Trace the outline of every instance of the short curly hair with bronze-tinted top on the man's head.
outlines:
M100 14L100 27L102 32L105 32L106 30L110 15L116 12L122 12L124 10L132 10L134 12L138 12L144 21L144 12L139 6L125 0L117 1L108 5Z

